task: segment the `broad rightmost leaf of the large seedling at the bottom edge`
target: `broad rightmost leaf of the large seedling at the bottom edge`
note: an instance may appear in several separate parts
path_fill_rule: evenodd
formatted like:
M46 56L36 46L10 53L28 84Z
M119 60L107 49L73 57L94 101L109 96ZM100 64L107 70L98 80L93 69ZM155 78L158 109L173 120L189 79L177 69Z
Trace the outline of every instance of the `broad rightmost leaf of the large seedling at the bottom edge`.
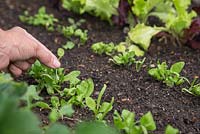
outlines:
M156 124L154 122L151 112L148 112L142 116L142 118L140 119L140 124L144 126L147 130L153 131L156 129Z

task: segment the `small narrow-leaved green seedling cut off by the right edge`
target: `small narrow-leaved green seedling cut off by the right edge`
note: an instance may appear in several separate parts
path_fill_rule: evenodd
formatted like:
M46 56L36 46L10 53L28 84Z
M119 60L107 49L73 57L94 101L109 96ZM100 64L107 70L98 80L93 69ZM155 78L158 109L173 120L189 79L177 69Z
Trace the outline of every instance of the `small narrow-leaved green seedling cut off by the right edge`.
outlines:
M182 88L183 92L187 92L189 94L195 95L195 96L200 96L200 83L195 84L198 78L194 78L192 83L190 84L190 87L187 88Z

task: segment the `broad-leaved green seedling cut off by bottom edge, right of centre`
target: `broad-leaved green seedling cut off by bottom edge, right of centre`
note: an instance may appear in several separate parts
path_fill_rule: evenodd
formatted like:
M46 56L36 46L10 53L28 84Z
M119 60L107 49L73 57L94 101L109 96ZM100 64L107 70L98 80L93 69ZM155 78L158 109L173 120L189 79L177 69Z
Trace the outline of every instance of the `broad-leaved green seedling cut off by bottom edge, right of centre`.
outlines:
M123 110L121 115L114 112L114 125L119 130L123 130L125 134L147 134L148 131L156 129L151 112L143 115L139 121L135 121L135 113Z

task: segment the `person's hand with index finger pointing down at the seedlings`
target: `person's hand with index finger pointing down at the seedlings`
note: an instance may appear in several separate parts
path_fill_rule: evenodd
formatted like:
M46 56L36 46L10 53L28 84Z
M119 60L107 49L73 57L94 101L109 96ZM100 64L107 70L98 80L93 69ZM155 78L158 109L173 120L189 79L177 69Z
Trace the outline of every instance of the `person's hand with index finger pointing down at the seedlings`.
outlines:
M19 76L38 59L51 68L60 67L60 62L41 42L26 30L14 27L0 29L0 70Z

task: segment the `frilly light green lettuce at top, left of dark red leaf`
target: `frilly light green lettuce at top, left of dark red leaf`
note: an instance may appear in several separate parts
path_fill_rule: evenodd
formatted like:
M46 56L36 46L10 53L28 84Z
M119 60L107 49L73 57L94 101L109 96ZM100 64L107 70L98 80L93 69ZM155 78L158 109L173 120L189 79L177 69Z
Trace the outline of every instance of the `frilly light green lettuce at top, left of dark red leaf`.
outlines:
M62 7L78 14L89 13L111 22L117 15L119 0L62 0Z

